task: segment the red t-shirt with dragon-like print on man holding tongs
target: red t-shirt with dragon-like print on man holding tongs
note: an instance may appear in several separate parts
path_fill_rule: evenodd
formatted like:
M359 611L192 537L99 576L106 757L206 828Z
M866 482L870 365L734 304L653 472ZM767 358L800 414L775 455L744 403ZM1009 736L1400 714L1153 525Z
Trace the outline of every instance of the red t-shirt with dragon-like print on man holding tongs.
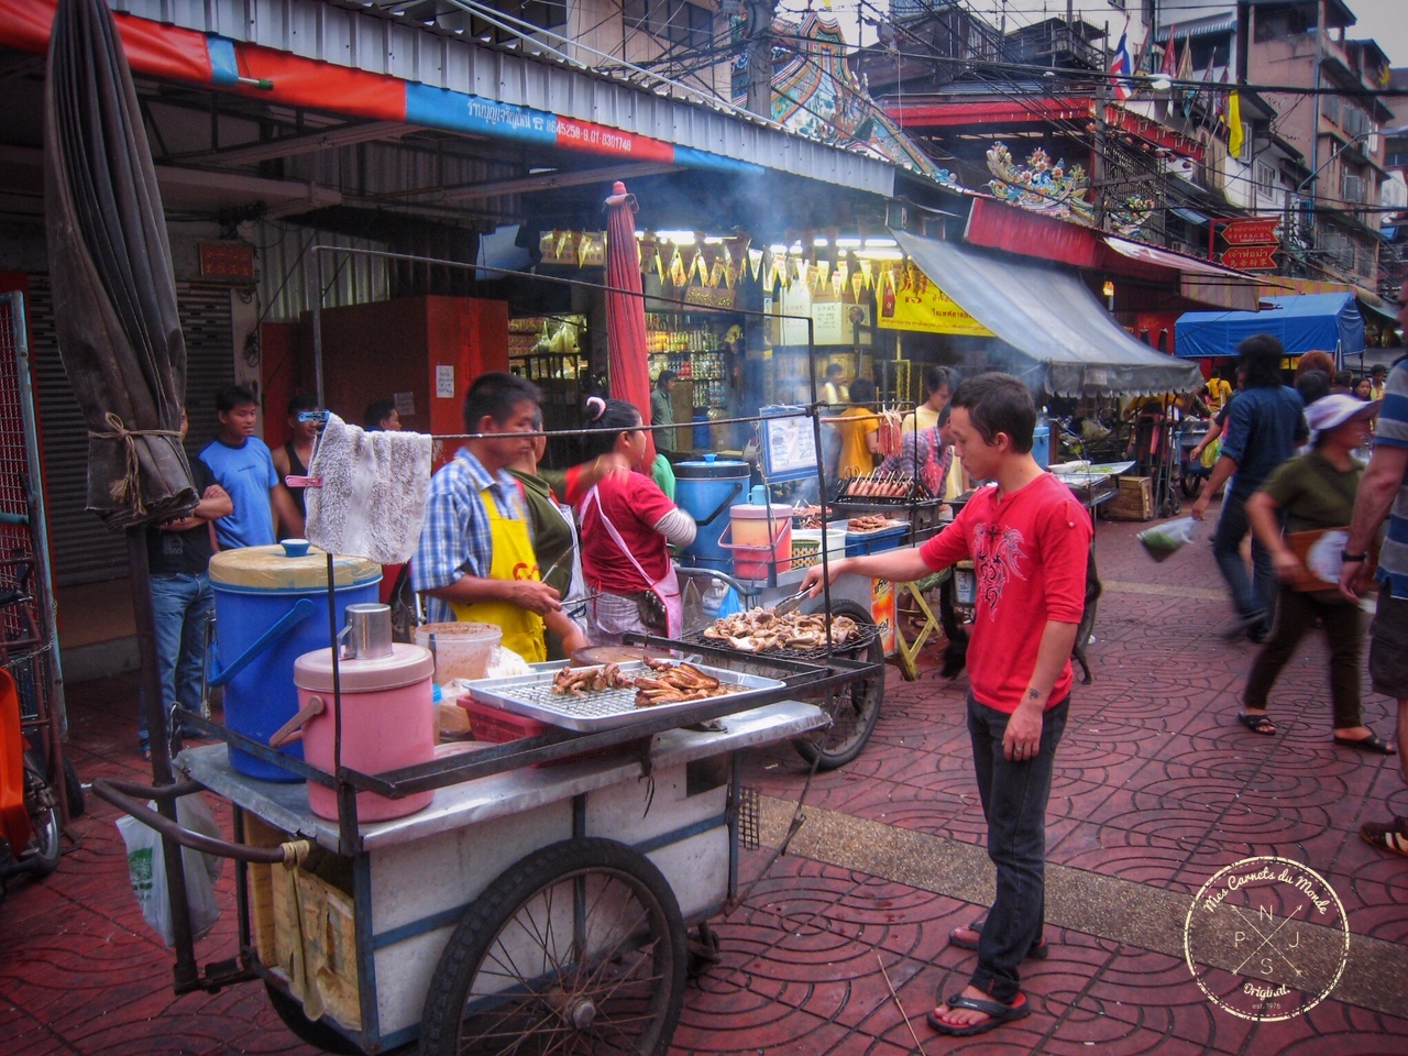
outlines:
M934 572L973 560L977 604L967 669L980 704L1012 714L1036 670L1046 621L1080 622L1093 534L1070 489L1043 473L1001 498L995 487L979 489L953 524L921 548ZM1070 684L1067 659L1048 707Z

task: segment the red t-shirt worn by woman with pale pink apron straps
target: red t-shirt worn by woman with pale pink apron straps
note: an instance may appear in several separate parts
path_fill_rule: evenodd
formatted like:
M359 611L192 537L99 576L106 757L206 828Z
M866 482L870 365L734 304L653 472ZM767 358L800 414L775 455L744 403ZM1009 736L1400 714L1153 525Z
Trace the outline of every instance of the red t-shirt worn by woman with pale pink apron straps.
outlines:
M622 542L631 549L636 563L652 580L670 570L670 553L665 536L655 531L674 503L660 487L642 473L612 473L597 483L597 503L583 498L582 515L582 572L587 586L612 594L631 594L650 584L641 579L631 559L621 552L615 539L601 524L601 514L615 527Z

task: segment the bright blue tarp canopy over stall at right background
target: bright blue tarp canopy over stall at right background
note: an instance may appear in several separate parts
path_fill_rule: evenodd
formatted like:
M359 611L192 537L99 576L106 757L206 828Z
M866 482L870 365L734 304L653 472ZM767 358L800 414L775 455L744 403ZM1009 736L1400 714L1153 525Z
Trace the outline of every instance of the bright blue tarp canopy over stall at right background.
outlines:
M1280 338L1286 355L1319 349L1340 356L1364 351L1364 317L1352 293L1300 293L1263 297L1262 311L1187 311L1173 328L1174 352L1183 358L1235 356L1253 334Z

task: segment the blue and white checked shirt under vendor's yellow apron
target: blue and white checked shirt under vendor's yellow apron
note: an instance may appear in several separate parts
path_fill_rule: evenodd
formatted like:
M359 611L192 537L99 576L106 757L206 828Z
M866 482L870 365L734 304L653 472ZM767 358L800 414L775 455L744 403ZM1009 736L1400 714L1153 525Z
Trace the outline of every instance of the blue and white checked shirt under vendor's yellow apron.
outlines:
M438 590L465 576L486 579L494 563L489 511L479 493L491 489L498 515L527 521L518 483L504 470L497 474L469 453L455 452L455 460L436 470L425 496L425 524L411 559L411 586L417 591ZM448 601L425 598L425 617L432 624L455 620Z

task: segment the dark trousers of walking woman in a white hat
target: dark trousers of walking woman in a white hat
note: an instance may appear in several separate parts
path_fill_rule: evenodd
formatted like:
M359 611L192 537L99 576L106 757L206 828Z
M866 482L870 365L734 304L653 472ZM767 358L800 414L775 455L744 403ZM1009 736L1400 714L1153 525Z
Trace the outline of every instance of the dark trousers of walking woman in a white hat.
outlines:
M1315 629L1315 621L1325 624L1329 643L1329 696L1335 703L1335 729L1363 724L1359 700L1359 607L1340 597L1322 600L1318 593L1291 590L1283 586L1276 603L1276 624L1271 636L1252 665L1246 679L1243 703L1262 710L1281 669L1295 653L1300 641Z

